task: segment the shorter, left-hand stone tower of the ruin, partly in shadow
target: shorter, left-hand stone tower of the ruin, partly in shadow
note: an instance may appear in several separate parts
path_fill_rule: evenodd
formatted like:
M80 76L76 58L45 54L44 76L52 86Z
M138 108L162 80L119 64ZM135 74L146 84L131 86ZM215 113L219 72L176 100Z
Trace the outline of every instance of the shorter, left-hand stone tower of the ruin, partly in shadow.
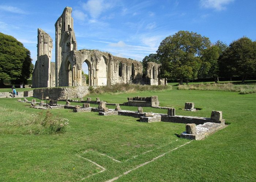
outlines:
M55 68L51 64L52 38L42 29L37 34L37 61L33 71L33 87L54 87Z

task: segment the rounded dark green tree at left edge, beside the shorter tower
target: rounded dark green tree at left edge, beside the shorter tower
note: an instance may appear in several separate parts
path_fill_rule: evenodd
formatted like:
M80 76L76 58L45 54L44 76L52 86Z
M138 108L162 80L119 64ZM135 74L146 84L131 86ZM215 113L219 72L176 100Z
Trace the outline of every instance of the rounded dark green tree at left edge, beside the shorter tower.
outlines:
M0 33L0 79L25 82L33 71L30 51L10 35Z

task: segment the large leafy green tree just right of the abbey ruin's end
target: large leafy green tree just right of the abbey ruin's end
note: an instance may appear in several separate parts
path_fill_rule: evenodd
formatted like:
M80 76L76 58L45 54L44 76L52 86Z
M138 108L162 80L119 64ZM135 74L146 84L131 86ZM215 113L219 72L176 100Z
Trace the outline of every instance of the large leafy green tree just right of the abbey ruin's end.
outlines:
M158 47L157 55L162 64L160 77L169 79L196 79L203 60L203 50L210 47L208 37L195 32L178 31L166 37Z

